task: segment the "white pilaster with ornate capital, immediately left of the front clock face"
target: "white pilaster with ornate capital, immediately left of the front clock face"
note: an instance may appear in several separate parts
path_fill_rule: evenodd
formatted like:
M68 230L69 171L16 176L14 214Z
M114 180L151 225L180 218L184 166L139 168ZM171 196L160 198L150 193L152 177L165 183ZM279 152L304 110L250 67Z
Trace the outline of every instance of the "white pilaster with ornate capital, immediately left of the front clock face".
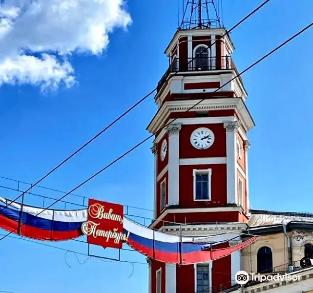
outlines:
M179 203L179 131L181 124L167 126L168 133L168 206Z

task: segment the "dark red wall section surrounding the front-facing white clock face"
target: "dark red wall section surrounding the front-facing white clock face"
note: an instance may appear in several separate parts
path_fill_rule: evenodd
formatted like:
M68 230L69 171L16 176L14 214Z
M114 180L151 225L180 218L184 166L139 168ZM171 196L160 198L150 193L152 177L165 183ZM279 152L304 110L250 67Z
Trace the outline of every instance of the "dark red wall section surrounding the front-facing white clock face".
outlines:
M190 143L190 135L198 127L208 127L214 133L214 143L207 149L196 149ZM179 157L180 159L226 157L226 130L223 124L183 125L179 133Z

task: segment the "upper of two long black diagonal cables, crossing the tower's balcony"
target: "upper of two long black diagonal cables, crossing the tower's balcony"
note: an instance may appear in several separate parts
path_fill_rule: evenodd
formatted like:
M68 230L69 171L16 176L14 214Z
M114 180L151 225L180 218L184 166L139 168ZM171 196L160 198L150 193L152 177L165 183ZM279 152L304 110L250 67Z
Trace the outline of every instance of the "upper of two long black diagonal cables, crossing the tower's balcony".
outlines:
M237 22L233 27L230 28L229 31L227 31L224 35L222 35L221 38L227 36L232 30L234 30L236 27L238 27L241 23L243 23L244 21L246 21L248 18L250 18L251 15L253 15L254 13L256 13L259 9L261 9L265 4L267 4L270 0L265 0L263 3L261 3L258 7L256 7L254 10L252 10L246 17L244 17L242 20L240 20L239 22ZM213 44L215 44L215 42L213 42L211 44L211 46ZM204 49L202 50L202 52L204 51ZM193 62L194 57L191 58L191 60L188 62L191 63ZM173 74L173 76L175 76L176 74L178 74L178 72L175 72ZM167 81L166 81L167 83ZM137 103L135 103L134 105L132 105L129 109L127 109L122 115L120 115L118 118L116 118L113 122L111 122L108 126L104 127L99 133L97 133L94 137L92 137L89 141L87 141L83 146L81 146L80 148L78 148L75 152L73 152L70 156L68 156L66 159L64 159L59 165L57 165L56 167L54 167L53 169L51 169L48 173L46 173L41 179L39 179L37 182L35 182L31 187L27 188L25 191L23 191L17 198L15 198L13 200L12 203L15 203L18 199L20 199L26 192L28 192L29 190L31 190L31 188L37 186L39 183L41 183L45 178L47 178L50 174L52 174L55 170L57 170L59 167L61 167L63 164L65 164L68 160L70 160L72 157L74 157L78 152L80 152L84 147L88 146L91 142L93 142L97 137L99 137L101 134L103 134L107 129L109 129L111 126L113 126L115 123L117 123L119 120L121 120L126 114L128 114L131 110L133 110L135 107L137 107L138 105L140 105L143 101L146 100L146 98L148 98L150 95L152 95L158 87L155 87L154 89L152 89L149 93L147 93L141 100L139 100ZM7 205L8 207L8 205Z

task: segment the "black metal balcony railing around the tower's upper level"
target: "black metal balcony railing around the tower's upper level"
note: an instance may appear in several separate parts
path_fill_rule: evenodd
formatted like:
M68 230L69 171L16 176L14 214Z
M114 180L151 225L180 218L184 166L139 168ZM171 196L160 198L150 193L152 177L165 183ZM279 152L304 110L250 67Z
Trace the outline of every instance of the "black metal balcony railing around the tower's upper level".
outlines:
M191 71L210 71L210 70L229 70L234 69L237 72L235 64L230 56L223 57L195 57L195 58L176 58L168 67L167 71L160 79L157 90L166 82L168 76L175 72L191 72Z

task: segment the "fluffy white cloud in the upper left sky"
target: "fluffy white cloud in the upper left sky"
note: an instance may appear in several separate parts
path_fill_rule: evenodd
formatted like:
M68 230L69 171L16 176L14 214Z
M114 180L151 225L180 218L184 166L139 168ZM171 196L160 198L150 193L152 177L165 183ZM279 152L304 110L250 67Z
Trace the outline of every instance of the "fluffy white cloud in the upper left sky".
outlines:
M70 87L75 76L66 56L102 54L108 34L130 22L123 0L2 0L0 85Z

